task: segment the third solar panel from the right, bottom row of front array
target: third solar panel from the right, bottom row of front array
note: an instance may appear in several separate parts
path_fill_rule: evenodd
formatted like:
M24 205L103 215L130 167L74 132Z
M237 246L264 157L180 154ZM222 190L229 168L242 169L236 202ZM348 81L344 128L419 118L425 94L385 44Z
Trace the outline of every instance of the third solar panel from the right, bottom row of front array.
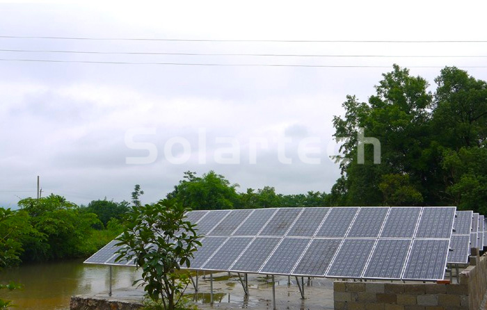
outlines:
M360 278L374 243L374 239L345 239L326 272L326 277Z

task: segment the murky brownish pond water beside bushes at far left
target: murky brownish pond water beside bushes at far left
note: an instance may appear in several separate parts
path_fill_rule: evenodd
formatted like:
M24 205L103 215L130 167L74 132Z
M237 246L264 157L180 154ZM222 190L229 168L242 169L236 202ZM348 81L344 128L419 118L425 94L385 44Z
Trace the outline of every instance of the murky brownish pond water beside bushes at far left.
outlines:
M113 267L113 288L131 286L139 275L130 267ZM67 310L72 295L99 293L109 289L109 268L83 264L83 260L27 264L0 272L0 282L22 284L22 290L0 291L26 310Z

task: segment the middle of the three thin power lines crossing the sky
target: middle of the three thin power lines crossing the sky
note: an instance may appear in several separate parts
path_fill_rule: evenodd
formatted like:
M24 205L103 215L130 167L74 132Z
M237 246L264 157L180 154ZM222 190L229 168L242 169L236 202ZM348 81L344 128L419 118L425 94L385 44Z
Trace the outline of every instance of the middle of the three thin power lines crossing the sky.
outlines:
M340 57L340 58L487 58L487 55L339 55L339 54L233 54L233 53L168 53L152 51L65 51L51 49L0 49L6 52L101 54L101 55L175 55L175 56L269 56L269 57Z

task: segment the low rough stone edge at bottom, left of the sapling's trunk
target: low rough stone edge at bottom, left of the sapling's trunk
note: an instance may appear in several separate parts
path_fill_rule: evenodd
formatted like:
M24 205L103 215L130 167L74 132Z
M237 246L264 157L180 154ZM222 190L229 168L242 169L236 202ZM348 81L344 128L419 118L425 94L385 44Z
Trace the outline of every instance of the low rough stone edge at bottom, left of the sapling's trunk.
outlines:
M102 297L71 297L70 310L138 310L142 307L139 302L121 302Z

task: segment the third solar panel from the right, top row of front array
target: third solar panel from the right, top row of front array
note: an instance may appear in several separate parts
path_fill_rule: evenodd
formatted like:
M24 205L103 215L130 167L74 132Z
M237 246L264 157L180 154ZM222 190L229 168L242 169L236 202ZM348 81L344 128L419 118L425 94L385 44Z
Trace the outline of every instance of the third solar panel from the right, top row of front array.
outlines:
M389 208L362 207L346 238L377 238Z

